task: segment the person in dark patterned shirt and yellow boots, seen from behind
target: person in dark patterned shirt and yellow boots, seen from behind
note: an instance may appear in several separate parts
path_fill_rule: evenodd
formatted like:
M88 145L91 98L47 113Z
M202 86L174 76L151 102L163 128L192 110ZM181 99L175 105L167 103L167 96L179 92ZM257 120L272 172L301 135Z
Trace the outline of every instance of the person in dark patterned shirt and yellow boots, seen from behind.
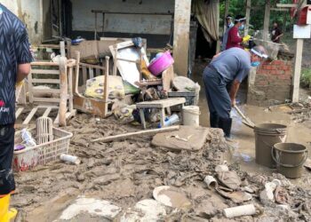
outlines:
M0 4L0 221L10 221L17 211L9 210L15 189L12 173L15 123L15 85L30 71L32 55L22 22Z

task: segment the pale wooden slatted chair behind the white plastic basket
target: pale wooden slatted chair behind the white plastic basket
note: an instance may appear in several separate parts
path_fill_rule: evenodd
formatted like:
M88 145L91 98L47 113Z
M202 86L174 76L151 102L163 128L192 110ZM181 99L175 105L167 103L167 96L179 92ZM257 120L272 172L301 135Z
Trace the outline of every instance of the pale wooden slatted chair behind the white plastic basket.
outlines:
M52 109L58 110L54 124L66 125L66 119L76 115L73 106L72 75L75 59L60 58L60 62L32 62L31 72L28 75L28 103L35 105L29 112L23 125L27 125L36 115L39 109L44 109L44 115L48 116ZM35 86L49 85L50 89L37 89ZM24 86L25 87L25 86ZM25 88L21 93L21 106L18 107L16 119L24 111L27 101ZM44 95L50 94L50 97ZM19 100L19 99L18 99Z

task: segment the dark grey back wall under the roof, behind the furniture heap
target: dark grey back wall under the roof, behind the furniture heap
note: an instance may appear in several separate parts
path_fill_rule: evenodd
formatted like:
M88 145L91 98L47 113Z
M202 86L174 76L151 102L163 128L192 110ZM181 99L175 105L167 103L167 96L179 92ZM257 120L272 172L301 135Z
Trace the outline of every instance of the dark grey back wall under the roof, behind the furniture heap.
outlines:
M72 6L73 30L94 31L94 13L91 12L93 9L108 12L167 13L174 11L174 0L72 0ZM102 20L99 15L99 31ZM110 14L105 18L106 32L169 35L170 30L171 16Z

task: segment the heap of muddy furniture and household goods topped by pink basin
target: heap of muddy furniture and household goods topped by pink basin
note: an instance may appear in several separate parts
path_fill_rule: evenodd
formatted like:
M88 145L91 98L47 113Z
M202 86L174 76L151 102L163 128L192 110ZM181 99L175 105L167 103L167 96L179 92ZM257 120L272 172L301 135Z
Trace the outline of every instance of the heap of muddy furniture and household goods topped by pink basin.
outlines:
M151 62L149 62L143 43L144 40L138 37L133 38L132 41L108 46L113 57L112 75L107 72L110 69L108 65L105 67L108 76L94 76L99 71L91 72L90 65L81 63L83 75L91 78L84 80L85 83L82 85L78 84L79 92L76 92L76 96L83 98L81 95L84 95L91 101L88 103L91 103L92 107L85 105L86 99L84 99L84 106L81 106L81 101L78 102L78 99L74 99L77 109L83 112L88 109L92 114L97 114L98 106L93 104L94 99L100 101L100 99L107 98L108 100L102 102L111 104L112 113L121 123L138 122L144 125L144 122L147 121L148 125L154 127L180 123L182 119L181 105L196 106L200 86L187 77L177 76L174 73L172 67L174 59L169 50L157 53L152 59L150 57ZM81 59L84 60L84 58ZM84 71L84 66L89 69L89 75ZM170 102L163 101L163 110L158 110L157 106L160 105L152 103L152 101L168 98L171 100ZM185 98L186 102L170 106L171 101L174 103L179 98ZM140 102L147 102L147 104L143 108L137 108L136 104ZM104 117L106 117L105 115ZM165 119L165 124L163 124L163 119Z

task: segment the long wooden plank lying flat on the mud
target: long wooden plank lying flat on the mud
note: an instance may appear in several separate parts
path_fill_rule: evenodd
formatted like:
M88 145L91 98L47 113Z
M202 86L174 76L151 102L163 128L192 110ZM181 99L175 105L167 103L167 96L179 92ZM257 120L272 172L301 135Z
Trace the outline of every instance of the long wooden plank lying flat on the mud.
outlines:
M148 131L135 131L135 132L128 132L116 136L110 136L106 138L100 138L100 139L93 139L91 142L112 142L120 139L128 139L128 138L135 138L135 136L146 136L146 135L153 135L159 132L166 132L166 131L178 131L179 126L170 126L162 129L155 129L155 130L148 130Z

